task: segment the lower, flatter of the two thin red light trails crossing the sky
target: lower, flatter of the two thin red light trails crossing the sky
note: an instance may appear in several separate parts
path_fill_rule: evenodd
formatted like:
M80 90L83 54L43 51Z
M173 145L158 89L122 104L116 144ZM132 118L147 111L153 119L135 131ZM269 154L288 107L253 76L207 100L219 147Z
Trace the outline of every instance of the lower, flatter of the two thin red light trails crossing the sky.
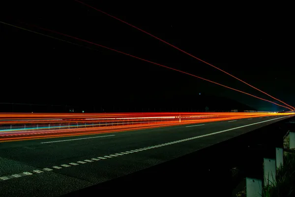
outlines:
M0 22L0 23L3 23L3 22ZM7 24L7 23L3 23L3 24L10 25L10 24ZM19 28L19 27L14 26L14 25L10 25L10 26L12 26L12 27L16 27L16 28ZM257 97L257 96L254 96L254 95L251 95L251 94L249 94L249 93L246 93L246 92L243 92L243 91L240 91L240 90L237 90L237 89L231 88L231 87L229 87L229 86L222 85L222 84L220 84L220 83L217 83L217 82L214 82L214 81L211 81L211 80L205 79L205 78L203 78L203 77L200 77L200 76L197 76L197 75L194 75L194 74L190 74L190 73L188 73L188 72L184 72L184 71L182 71L182 70L178 70L178 69L175 69L175 68L172 68L172 67L169 67L169 66L164 66L164 65L161 65L161 64L158 64L158 63L155 63L155 62L151 62L151 61L148 61L148 60L146 60L146 59L139 58L139 57L137 57L137 56L130 55L130 54L128 54L128 53L124 53L124 52L118 51L118 50L116 50L116 49L112 49L112 48L110 48L110 47L106 47L106 46L103 46L103 45L100 45L100 44L96 44L96 43L90 42L90 41L88 41L88 40L84 40L84 39L81 39L81 38L77 38L77 37L74 37L74 36L71 36L71 35L67 35L67 34L64 34L64 33L59 33L59 32L56 32L56 31L52 31L52 30L48 30L48 29L44 29L44 28L40 28L40 27L35 26L35 25L33 25L33 26L36 27L36 28L38 28L38 29L44 30L44 31L57 33L57 34L60 34L60 35L64 35L64 36L67 36L67 37L71 37L71 38L74 38L74 39L77 39L77 40L80 40L80 41L84 41L84 42L87 42L87 43L93 44L93 45L96 45L96 46L99 46L99 47L103 47L103 48L106 48L106 49L109 49L109 50L112 50L112 51L115 51L115 52L118 52L118 53L121 53L121 54L124 54L124 55L130 56L130 57L133 57L133 58L136 58L136 59L139 59L139 60L142 60L142 61L145 61L145 62L148 62L148 63L154 64L154 65L157 65L157 66L162 66L162 67L165 67L165 68L168 68L168 69L172 69L172 70L175 70L175 71L178 71L178 72L184 73L184 74L188 74L188 75L191 75L191 76L197 77L197 78L199 78L199 79L202 79L202 80L208 81L208 82L210 82L210 83L214 83L214 84L216 84L216 85L223 86L223 87L225 87L225 88L228 88L228 89L231 89L231 90L235 90L235 91L237 91L237 92L240 92L240 93L243 93L243 94L249 95L249 96L251 96L251 97L254 97L254 98L257 98L257 99L261 99L261 100L265 100L265 101L267 101L267 102L270 102L270 103L273 103L273 104L275 104L275 105L278 105L278 106L281 106L281 107L287 108L287 109L289 109L289 110L292 111L292 109L289 108L289 107L286 107L286 106L283 106L283 105L277 104L277 103L272 102L272 101L270 101L270 100L262 99L262 98L260 98L260 97ZM24 29L24 28L20 28L20 29L22 29L22 30L27 30L27 29ZM30 31L30 32L33 32L33 31ZM33 33L36 33L36 32L33 32ZM49 36L49 37L50 37L50 36ZM60 39L60 40L61 40L61 39ZM71 42L69 42L69 43L71 43Z

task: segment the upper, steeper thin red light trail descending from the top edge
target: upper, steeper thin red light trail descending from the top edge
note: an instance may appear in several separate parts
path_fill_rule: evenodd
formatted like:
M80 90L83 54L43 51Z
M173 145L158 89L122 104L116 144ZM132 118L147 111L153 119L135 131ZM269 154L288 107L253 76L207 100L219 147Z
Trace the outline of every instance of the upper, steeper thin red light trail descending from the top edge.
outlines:
M271 97L272 99L276 99L276 98L272 97L271 95L267 94L266 92L263 92L262 90L260 90L260 89L258 89L258 88L256 88L256 87L254 87L254 86L252 86L252 85L246 83L245 81L243 81L243 80L237 78L236 76L234 76L234 75L232 75L232 74L230 74L230 73L228 73L228 72L222 70L221 68L219 68L219 67L217 67L217 66L213 66L213 65L211 65L211 64L207 63L206 61L201 60L200 58L197 58L197 57L191 55L190 53L188 53L188 52L186 52L186 51L184 51L184 50L182 50L182 49L179 49L178 47L176 47L176 46L174 46L174 45L172 45L172 44L170 44L170 43L168 43L168 42L166 42L166 41L164 41L164 40L162 40L162 39L156 37L155 35L153 35L153 34L151 34L151 33L148 33L148 32L146 32L146 31L144 31L144 30L142 30L142 29L140 29L140 28L138 28L138 27L136 27L136 26L134 26L134 25L131 25L131 24L129 24L129 23L127 23L127 22L125 22L125 21L123 21L123 20L121 20L121 19L119 19L119 18L113 16L113 15L110 15L110 14L108 14L108 13L106 13L106 12L100 10L100 9L97 9L97 8L95 8L95 7L93 7L93 6L89 5L89 4L87 4L87 3L81 2L81 1L79 1L79 0L75 0L75 1L77 1L77 2L79 2L79 3L82 3L82 4L84 4L84 5L86 5L86 6L90 7L90 8L93 8L93 9L95 9L95 10L97 10L97 11L103 13L103 14L106 14L106 15L108 15L108 16L110 16L110 17L112 17L112 18L114 18L114 19L116 19L116 20L118 20L118 21L120 21L120 22L122 22L122 23L125 23L125 24L127 24L127 25L129 25L129 26L131 26L131 27L133 27L133 28L135 28L135 29L137 29L137 30L143 32L143 33L146 33L146 34L148 34L148 35L150 35L150 36L152 36L152 37L154 37L154 38L160 40L161 42L164 42L164 43L168 44L169 46L172 46L172 47L176 48L177 50L179 50L179 51L181 51L181 52L183 52L183 53L185 53L185 54L187 54L187 55L189 55L189 56L191 56L191 57L193 57L193 58L195 58L195 59L197 59L197 60L199 60L199 61L201 61L201 62L203 62L203 63L205 63L205 64L207 64L207 65L209 65L209 66L212 66L212 67L214 67L214 68L216 68L216 69L218 69L218 70L220 70L220 71L222 71L222 72L224 72L224 73L226 73L226 74L228 74L228 75L230 75L230 76L232 76L232 77L234 77L235 79L237 79L237 80L243 82L244 84L246 84L246 85L248 85L248 86L250 86L250 87L252 87L252 88L254 88L254 89L256 89L256 90L258 90L258 91L260 91L260 92L262 92L262 93L264 93L264 94L266 94L267 96ZM278 100L278 101L284 103L285 105L287 105L287 106L289 106L289 107L292 107L293 110L295 110L295 107L293 107L293 106L291 106L291 105L289 105L289 104L283 102L282 100L279 100L279 99L276 99L276 100ZM291 110L292 110L292 109L291 109Z

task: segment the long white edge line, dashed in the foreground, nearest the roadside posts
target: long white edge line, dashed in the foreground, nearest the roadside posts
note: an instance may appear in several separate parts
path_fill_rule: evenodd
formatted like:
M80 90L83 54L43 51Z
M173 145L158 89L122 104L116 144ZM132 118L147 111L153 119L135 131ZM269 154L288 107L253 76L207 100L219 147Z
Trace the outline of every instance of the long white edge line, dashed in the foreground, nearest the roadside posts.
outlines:
M289 116L287 116L287 117L289 117ZM177 141L173 141L173 142L168 142L168 143L158 144L158 145L154 145L154 146L149 146L149 147L146 147L146 148L141 148L141 149L126 151L126 152L116 153L116 154L110 155L110 156L97 157L98 159L92 158L91 160L84 160L86 162L78 161L76 163L79 163L79 164L89 164L90 162L94 162L94 161L102 161L102 160L105 160L105 159L108 159L108 158L113 158L113 157L118 157L118 156L124 156L124 155L127 155L129 153L137 153L137 152L141 152L143 150L148 150L148 149L152 149L152 148L159 148L159 147L162 147L162 146L167 146L167 145L171 145L171 144L175 144L175 143L180 143L180 142L183 142L183 141L189 141L189 140L193 140L193 139L197 139L197 138L201 138L201 137L215 135L215 134L226 132L226 131L232 131L232 130L236 130L236 129L240 129L240 128L244 128L244 127L248 127L248 126L252 126L252 125L256 125L256 124L260 124L260 123L265 123L265 122L272 121L272 120L277 120L277 119L280 119L280 118L284 118L284 117L274 118L274 119L271 119L271 120L261 121L261 122L258 122L258 123L244 125L244 126L240 126L240 127L236 127L236 128L232 128L232 129L228 129L228 130L217 131L217 132L212 132L212 133L208 133L208 134L204 134L204 135L199 135L199 136L195 136L195 137L185 138L185 139L181 139L181 140L177 140ZM62 164L61 166L69 167L69 166L72 166L72 165L79 165L79 164L76 164L76 163L69 163L71 165ZM61 169L62 167L60 167L60 166L52 166L52 168ZM52 171L53 169L51 169L51 168L43 168L43 170L44 171ZM9 175L9 176L7 176L7 175L6 176L1 176L0 177L0 181L5 181L5 180L8 180L8 179L12 179L12 178L19 178L19 177L27 176L27 175L33 175L33 172L35 172L35 173L41 173L41 172L44 172L44 171L41 171L41 170L32 170L32 173L31 172L23 172L23 173L13 174L13 175Z

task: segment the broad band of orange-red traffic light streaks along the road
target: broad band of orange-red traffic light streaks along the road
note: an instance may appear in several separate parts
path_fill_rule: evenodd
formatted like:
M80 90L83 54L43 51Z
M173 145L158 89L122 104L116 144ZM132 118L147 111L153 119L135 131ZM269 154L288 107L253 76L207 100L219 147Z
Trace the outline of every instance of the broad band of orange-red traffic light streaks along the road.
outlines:
M0 114L0 142L135 131L295 113L158 112L158 113L10 113ZM47 118L52 120L48 121Z

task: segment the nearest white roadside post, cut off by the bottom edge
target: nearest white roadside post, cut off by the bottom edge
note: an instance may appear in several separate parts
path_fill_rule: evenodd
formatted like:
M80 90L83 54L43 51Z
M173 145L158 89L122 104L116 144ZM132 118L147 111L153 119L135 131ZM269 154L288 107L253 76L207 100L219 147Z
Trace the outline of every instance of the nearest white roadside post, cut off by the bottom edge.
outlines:
M262 197L262 180L246 177L246 196Z

